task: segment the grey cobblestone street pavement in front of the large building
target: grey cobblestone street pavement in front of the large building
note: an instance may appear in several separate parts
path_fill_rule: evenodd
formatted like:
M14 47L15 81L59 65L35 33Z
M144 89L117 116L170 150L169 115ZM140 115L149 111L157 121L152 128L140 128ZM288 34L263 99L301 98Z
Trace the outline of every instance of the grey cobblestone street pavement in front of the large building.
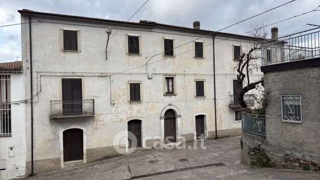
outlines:
M187 149L140 149L24 180L320 180L318 172L241 165L239 141L240 137L206 140L206 149L200 142L196 149L193 143Z

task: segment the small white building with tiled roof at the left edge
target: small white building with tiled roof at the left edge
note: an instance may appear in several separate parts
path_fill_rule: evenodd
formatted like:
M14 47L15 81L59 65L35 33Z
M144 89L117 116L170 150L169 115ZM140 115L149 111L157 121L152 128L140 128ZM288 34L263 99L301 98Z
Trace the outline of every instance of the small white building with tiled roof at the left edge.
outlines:
M26 174L25 97L22 62L0 63L0 180Z

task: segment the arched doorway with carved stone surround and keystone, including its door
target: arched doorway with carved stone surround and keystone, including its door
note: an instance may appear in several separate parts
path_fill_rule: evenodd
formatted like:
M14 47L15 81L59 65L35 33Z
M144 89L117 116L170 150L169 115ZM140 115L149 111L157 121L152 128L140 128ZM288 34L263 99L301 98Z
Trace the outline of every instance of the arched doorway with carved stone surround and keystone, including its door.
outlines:
M170 111L168 111L168 110L170 110ZM168 113L167 113L167 111L168 111ZM167 115L167 117L165 114ZM171 120L168 120L168 119L171 119ZM169 104L166 107L164 107L161 111L161 115L160 115L161 141L163 143L165 143L165 120L166 120L166 123L174 123L174 125L175 125L175 127L173 127L175 129L175 136L173 136L173 137L175 137L174 142L180 142L181 141L181 128L180 128L181 113L180 113L179 108L176 107L175 105ZM167 124L167 125L170 125L170 124ZM173 124L170 125L171 130L172 130L172 126L174 126L174 125ZM172 131L172 133L174 133L174 131ZM167 135L167 133L166 133L166 135Z

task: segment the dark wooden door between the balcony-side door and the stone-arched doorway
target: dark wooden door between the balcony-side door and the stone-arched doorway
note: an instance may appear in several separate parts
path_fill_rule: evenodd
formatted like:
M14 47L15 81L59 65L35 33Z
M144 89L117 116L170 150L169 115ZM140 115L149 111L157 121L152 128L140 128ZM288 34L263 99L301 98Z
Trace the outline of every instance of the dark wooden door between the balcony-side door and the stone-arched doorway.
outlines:
M131 132L133 134L128 134L129 147L131 147L133 143L136 143L137 147L141 147L141 120L128 121L128 132ZM133 142L133 140L135 139L131 136L135 136L136 142Z

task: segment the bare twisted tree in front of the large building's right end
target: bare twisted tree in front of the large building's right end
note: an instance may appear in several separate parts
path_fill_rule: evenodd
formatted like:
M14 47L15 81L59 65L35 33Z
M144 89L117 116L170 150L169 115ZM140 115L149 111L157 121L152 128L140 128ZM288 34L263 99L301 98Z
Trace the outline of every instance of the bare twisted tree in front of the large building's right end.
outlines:
M255 89L256 85L263 82L261 80L256 80L254 82L250 81L250 74L253 71L258 71L261 62L261 43L267 38L267 31L264 25L252 25L246 33L248 36L253 37L254 41L248 46L246 51L242 51L238 59L238 64L235 69L237 72L236 79L238 80L237 91L238 91L238 101L243 108L247 108L247 103L244 100L244 94L248 91ZM246 82L246 83L244 83ZM243 87L242 85L245 84Z

